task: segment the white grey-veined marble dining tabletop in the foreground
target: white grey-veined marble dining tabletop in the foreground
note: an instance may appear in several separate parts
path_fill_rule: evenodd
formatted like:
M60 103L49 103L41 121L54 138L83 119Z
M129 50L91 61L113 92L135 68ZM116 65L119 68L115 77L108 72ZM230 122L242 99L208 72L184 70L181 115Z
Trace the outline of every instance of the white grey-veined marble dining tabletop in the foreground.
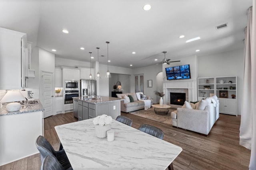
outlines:
M96 137L93 119L56 126L74 170L154 169L165 170L181 147L113 120L114 141Z

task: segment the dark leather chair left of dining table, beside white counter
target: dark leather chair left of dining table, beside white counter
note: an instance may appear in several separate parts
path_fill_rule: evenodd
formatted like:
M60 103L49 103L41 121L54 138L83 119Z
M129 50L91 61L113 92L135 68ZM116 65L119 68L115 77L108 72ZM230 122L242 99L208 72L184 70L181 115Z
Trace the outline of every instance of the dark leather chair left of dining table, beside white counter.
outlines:
M40 152L41 162L43 162L46 156L54 156L64 169L71 168L65 150L55 151L52 145L41 135L36 139L36 148Z

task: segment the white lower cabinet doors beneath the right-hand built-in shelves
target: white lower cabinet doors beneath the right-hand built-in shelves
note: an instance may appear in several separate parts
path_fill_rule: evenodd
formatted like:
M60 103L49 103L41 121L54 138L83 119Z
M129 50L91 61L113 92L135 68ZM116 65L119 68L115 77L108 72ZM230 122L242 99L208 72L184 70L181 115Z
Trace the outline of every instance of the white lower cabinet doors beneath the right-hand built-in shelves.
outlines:
M236 100L234 99L221 99L220 102L220 113L226 113L230 115L236 115Z

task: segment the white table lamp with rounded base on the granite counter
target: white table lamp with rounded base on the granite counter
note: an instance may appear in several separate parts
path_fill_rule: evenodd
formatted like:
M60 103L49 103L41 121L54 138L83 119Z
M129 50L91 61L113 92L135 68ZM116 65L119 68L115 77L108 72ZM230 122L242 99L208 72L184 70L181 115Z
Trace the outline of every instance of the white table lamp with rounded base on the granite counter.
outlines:
M4 97L2 98L2 103L12 102L6 105L6 110L9 112L19 111L21 108L20 103L17 101L25 100L24 96L20 93L20 91L12 91L9 90Z

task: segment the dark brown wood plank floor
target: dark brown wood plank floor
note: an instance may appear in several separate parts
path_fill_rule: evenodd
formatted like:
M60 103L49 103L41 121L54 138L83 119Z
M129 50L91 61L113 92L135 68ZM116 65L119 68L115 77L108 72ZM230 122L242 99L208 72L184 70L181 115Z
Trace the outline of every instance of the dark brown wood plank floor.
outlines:
M132 127L136 129L142 123L159 127L164 131L165 141L182 147L182 152L173 162L175 170L248 170L250 150L239 145L240 116L220 114L206 137L129 113L121 114L130 117ZM57 150L60 145L54 126L74 121L77 119L72 112L44 119L44 136L54 149ZM36 154L0 166L0 170L40 169L40 164L40 155Z

